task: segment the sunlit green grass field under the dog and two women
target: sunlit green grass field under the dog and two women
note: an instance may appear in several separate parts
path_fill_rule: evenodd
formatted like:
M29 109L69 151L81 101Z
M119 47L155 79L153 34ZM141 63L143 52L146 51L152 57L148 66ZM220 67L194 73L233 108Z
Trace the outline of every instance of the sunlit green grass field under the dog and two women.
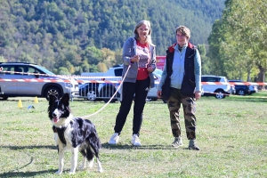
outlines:
M22 108L18 101L22 101ZM58 154L47 115L48 102L35 98L0 101L0 177L60 177ZM74 100L75 116L87 116L101 109L104 102ZM35 109L27 109L33 105ZM61 177L267 177L267 93L223 100L202 97L197 101L200 151L186 150L188 141L182 116L183 146L170 146L171 134L167 106L148 102L141 130L142 147L131 145L133 110L127 118L117 146L109 146L119 103L109 104L89 117L102 142L103 173L93 169L69 175L70 152L65 154ZM78 164L81 164L79 157Z

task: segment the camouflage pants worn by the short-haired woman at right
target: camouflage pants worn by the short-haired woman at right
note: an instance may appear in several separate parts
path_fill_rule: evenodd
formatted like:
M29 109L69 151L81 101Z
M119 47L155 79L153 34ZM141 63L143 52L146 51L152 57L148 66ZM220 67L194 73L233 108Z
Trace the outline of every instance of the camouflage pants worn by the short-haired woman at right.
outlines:
M167 103L174 137L181 136L180 108L182 104L186 136L188 140L195 140L197 118L195 117L196 103L194 98L192 96L182 95L180 90L175 88L171 88L170 93L170 98Z

